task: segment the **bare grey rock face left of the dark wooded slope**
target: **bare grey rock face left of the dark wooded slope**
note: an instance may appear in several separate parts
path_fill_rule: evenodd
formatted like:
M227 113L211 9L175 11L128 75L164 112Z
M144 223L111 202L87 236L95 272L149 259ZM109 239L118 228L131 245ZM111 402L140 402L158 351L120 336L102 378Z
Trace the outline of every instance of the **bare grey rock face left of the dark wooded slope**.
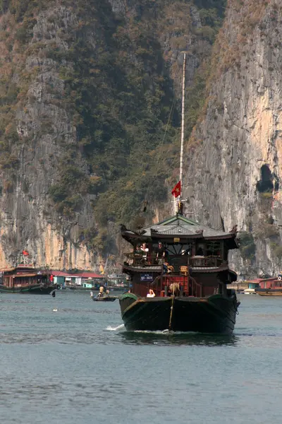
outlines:
M17 264L25 249L37 266L90 268L92 253L80 243L80 230L93 220L90 196L81 199L80 213L68 218L55 211L48 195L61 168L67 165L65 152L75 146L77 136L60 101L64 82L59 66L46 51L52 43L58 49L68 49L63 34L76 17L64 6L35 10L32 35L21 45L16 35L25 23L11 12L6 10L1 16L2 35L6 33L10 41L8 47L2 37L2 95L6 85L16 90L17 98L11 122L6 122L7 146L1 152L9 162L1 166L0 266ZM87 172L79 152L76 160Z

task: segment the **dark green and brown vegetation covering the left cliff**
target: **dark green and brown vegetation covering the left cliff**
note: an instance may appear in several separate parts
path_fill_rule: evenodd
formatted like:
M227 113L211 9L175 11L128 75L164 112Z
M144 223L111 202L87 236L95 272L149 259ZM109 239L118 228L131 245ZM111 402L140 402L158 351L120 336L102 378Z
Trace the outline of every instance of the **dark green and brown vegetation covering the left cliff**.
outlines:
M16 187L23 145L32 151L42 136L54 136L63 153L49 158L56 166L49 199L71 219L84 197L92 196L98 230L85 228L83 234L99 249L109 240L109 221L133 223L144 199L153 207L166 201L166 179L176 182L180 51L188 49L193 64L188 137L204 105L211 47L226 0L138 0L125 13L113 11L113 3L0 1L2 190ZM38 36L37 28L35 39L36 25L46 33ZM37 65L27 66L31 61ZM51 78L45 84L47 112L58 106L66 111L75 129L73 143L67 134L55 134L46 111L39 129L25 134L18 124L27 105L38 107L30 87L42 80L43 62L63 82L63 90ZM152 208L147 213L152 216Z

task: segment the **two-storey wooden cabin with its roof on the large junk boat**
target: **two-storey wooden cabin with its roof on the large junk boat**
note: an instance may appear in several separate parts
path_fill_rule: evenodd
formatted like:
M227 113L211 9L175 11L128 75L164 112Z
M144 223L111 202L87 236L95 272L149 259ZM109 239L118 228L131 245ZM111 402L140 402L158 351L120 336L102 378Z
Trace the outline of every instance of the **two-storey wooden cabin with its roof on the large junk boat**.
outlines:
M185 218L181 213L140 232L123 228L132 252L125 254L123 272L130 275L133 293L171 295L171 284L180 295L202 297L226 293L236 281L228 267L229 249L237 249L236 226L231 232L214 230Z

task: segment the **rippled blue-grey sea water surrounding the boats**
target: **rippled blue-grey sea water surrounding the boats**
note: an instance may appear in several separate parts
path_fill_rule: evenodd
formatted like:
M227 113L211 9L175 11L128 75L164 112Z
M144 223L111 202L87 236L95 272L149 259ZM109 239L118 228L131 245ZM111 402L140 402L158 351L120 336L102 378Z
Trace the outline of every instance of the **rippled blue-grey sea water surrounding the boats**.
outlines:
M282 299L242 295L233 336L127 332L118 300L0 295L3 424L280 424Z

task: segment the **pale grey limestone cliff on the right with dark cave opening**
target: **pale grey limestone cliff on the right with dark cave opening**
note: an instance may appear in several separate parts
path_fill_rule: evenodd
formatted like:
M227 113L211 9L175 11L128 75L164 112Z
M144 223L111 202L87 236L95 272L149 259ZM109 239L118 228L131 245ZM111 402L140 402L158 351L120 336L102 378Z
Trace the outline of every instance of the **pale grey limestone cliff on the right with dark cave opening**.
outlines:
M204 115L186 146L185 196L199 220L238 225L240 276L281 270L282 9L229 1Z

